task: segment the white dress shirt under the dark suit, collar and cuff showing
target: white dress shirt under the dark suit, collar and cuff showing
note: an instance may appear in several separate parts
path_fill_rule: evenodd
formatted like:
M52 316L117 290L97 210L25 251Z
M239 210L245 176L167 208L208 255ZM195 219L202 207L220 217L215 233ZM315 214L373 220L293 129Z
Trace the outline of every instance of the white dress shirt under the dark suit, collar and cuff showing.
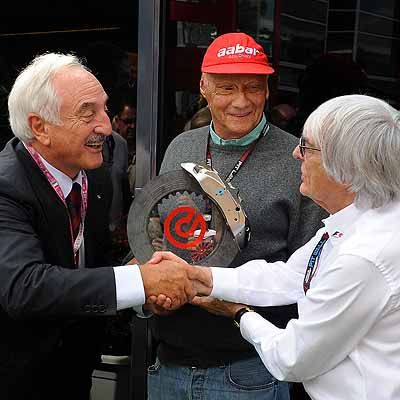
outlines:
M68 175L49 164L43 157L40 156L40 158L60 185L64 198L67 198L69 195L74 182L78 182L82 186L82 171L72 180ZM79 248L79 268L84 267L85 241L82 240L81 247ZM145 303L146 297L139 267L137 265L122 265L113 267L113 270L115 276L117 310L133 307L139 316L144 316L141 306Z

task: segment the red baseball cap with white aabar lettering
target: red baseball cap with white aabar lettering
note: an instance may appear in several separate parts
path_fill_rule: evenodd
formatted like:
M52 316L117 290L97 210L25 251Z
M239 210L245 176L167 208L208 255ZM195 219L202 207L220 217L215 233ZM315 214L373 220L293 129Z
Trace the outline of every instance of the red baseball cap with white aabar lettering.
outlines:
M264 49L245 33L226 33L208 46L201 72L214 74L261 74L274 72Z

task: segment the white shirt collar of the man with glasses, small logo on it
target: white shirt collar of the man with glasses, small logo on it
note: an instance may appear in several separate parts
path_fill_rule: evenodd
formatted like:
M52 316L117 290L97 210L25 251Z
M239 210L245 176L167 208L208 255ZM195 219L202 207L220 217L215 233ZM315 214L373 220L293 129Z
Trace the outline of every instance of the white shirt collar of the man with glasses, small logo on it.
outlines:
M322 220L333 244L336 240L345 238L349 228L354 226L355 221L362 213L363 210L357 208L354 204L350 204Z

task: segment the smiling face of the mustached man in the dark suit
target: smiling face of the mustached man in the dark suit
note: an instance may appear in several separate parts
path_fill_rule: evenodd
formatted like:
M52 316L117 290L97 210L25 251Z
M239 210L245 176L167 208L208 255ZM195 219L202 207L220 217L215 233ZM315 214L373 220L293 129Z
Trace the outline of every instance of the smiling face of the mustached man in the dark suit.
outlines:
M98 168L105 137L111 134L107 95L88 71L61 69L54 78L60 101L60 124L43 122L43 156L57 169L76 176L81 169Z

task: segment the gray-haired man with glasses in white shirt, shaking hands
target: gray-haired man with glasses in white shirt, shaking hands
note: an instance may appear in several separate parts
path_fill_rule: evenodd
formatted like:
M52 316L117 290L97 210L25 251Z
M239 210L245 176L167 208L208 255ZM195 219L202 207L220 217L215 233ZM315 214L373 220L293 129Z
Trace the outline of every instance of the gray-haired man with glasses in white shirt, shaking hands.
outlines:
M203 268L201 293L235 302L219 301L218 313L234 318L271 374L303 382L313 399L400 398L399 154L397 110L362 95L327 101L293 152L301 193L331 214L325 227L286 263ZM245 306L292 302L299 318L286 329Z

